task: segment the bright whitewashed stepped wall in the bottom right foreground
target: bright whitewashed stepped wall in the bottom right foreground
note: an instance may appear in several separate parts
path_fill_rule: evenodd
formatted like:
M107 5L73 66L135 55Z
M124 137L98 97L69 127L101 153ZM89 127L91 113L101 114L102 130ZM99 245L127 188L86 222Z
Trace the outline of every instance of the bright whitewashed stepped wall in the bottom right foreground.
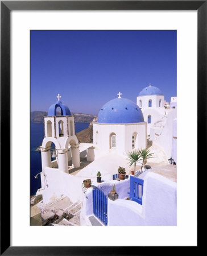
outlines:
M108 225L176 225L176 183L148 172L144 177L143 204L108 200Z

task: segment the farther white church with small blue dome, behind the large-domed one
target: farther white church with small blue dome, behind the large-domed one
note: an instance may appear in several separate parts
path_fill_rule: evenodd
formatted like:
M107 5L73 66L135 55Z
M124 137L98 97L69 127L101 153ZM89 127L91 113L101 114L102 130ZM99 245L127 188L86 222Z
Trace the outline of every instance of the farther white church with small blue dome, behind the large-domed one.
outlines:
M164 95L159 88L150 84L141 90L136 104L142 109L144 121L147 122L147 135L150 135L150 127L165 116Z

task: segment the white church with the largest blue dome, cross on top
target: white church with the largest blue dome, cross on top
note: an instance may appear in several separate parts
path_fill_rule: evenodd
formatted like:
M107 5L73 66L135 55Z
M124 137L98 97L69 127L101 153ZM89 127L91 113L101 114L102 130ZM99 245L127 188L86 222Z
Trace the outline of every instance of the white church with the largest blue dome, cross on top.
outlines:
M123 153L147 146L147 123L133 101L119 97L107 102L93 125L93 143L102 152Z

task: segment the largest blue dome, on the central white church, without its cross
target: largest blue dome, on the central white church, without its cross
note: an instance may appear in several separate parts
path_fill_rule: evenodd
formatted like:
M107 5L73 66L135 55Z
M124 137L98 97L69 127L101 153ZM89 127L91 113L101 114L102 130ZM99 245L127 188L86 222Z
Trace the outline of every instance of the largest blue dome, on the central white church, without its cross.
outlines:
M127 98L114 98L102 106L98 123L140 123L144 122L142 110Z

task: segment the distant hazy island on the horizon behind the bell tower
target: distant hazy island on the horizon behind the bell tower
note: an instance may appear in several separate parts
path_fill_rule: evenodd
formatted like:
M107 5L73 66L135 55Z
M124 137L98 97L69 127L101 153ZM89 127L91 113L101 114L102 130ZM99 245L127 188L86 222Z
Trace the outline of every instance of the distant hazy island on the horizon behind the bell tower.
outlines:
M81 114L81 113L71 113L74 115L74 121L77 123L90 123L97 115ZM30 115L30 120L32 123L43 123L44 117L47 112L44 111L32 111Z

